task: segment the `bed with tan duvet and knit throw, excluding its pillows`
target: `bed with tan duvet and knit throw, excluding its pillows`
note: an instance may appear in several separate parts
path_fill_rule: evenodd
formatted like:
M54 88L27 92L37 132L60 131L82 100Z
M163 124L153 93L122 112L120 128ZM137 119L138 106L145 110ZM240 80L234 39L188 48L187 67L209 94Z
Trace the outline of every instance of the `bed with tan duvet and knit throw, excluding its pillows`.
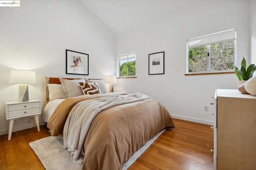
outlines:
M57 100L50 99L47 85L60 85L58 79L46 77L45 108ZM97 80L87 81L95 83ZM76 82L77 87L78 84L82 86L83 83ZM75 163L82 163L82 169L120 170L124 162L156 133L174 128L167 109L144 94L66 94L69 97L58 101L54 111L47 116L47 127L51 135L63 136L64 146L74 154Z

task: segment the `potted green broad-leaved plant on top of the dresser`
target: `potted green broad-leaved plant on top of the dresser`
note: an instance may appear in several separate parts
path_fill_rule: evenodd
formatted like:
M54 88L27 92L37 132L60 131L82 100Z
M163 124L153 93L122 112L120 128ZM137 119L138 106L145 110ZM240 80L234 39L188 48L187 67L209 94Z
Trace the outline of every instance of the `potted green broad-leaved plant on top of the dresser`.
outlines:
M241 69L238 69L235 66L235 73L238 78L238 87L244 84L248 79L252 78L254 71L256 71L255 64L251 64L246 68L246 60L243 57L241 61Z

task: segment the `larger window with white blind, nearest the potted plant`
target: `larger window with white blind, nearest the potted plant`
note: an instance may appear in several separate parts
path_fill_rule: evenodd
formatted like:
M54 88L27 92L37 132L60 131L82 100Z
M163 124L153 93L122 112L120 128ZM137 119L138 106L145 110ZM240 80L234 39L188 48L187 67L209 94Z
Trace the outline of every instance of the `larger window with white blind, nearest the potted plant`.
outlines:
M234 71L236 29L187 40L187 74Z

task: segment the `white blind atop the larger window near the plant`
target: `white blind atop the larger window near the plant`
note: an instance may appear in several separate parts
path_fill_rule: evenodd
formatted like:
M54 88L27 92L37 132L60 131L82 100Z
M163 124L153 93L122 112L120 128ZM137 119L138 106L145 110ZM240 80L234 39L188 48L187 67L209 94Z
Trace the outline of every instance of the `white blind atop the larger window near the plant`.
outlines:
M236 40L236 28L187 40L188 48Z

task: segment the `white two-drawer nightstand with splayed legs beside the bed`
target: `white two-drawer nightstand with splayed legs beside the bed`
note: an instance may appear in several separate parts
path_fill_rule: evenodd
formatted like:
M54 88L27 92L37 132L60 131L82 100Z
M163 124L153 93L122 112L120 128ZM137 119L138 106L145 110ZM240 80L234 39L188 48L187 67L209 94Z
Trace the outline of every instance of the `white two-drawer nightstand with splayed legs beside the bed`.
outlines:
M34 127L37 126L40 132L38 115L41 114L41 101L37 99L29 100L26 102L8 101L6 104L6 120L10 120L9 130L7 129L8 140L12 137L12 127L14 119L21 117L33 117Z

